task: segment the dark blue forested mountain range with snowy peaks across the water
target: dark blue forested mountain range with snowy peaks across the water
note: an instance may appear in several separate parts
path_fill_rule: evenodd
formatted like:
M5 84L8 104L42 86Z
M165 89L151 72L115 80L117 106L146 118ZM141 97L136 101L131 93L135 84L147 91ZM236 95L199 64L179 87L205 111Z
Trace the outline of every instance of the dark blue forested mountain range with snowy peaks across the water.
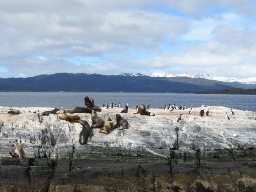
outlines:
M188 76L151 77L140 73L100 75L56 73L28 78L0 78L0 91L32 92L169 92L255 89L255 84L229 83Z

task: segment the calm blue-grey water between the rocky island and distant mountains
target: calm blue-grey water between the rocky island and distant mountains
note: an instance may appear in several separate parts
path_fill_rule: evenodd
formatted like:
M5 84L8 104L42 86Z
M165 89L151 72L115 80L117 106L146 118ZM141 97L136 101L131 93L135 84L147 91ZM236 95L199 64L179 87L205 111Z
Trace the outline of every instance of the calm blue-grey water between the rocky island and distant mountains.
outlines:
M171 93L67 93L67 92L0 92L0 106L17 107L53 107L66 109L75 106L85 106L84 97L94 99L94 104L102 107L106 102L120 102L124 108L137 103L151 104L150 108L164 108L169 103L176 106L186 105L186 108L205 106L226 106L234 109L256 112L256 95L215 95L215 94L171 94Z

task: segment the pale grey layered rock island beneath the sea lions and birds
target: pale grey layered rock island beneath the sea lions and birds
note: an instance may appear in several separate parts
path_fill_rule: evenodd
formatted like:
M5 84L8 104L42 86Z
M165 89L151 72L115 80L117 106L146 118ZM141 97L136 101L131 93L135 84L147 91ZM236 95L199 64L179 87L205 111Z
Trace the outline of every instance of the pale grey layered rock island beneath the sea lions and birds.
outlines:
M221 106L174 110L105 109L97 115L128 129L108 135L93 129L79 144L82 125L42 116L54 108L0 107L0 191L40 192L240 192L256 190L256 113ZM200 110L209 116L200 117ZM29 111L37 111L29 113ZM226 112L231 121L227 121ZM181 121L177 122L182 115ZM90 125L91 114L76 113ZM11 157L21 143L25 157Z

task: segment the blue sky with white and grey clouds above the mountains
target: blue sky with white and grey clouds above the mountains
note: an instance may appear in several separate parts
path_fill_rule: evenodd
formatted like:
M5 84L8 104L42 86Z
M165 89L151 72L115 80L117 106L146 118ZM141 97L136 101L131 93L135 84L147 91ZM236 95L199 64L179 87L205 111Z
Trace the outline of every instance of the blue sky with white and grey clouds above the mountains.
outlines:
M0 3L0 78L185 71L256 77L256 1Z

